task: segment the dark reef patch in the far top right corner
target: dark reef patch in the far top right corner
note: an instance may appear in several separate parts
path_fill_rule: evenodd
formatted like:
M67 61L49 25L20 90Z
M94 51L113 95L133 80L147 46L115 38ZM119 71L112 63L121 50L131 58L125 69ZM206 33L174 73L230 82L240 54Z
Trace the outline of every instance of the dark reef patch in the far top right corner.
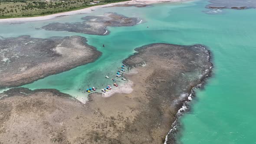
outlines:
M243 10L248 8L256 8L255 0L210 0L210 4L206 7L210 9L236 9Z

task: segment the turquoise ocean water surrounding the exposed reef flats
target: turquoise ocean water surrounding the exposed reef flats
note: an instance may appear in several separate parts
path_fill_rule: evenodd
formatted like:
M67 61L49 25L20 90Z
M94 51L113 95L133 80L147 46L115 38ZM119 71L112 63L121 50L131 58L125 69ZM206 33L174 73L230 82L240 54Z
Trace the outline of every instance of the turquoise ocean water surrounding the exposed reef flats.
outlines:
M19 25L2 23L0 36L85 36L89 45L103 53L98 60L23 85L30 89L56 88L81 101L87 98L86 88L103 88L111 84L105 75L114 75L122 60L133 54L137 47L150 43L206 45L212 52L213 74L205 87L196 91L190 111L179 120L181 127L177 141L182 144L255 144L256 10L214 13L204 8L206 4L207 1L194 1L160 3L145 8L112 7ZM111 33L107 36L35 29L52 22L82 21L83 16L105 12L141 17L144 23L110 27ZM102 48L102 44L106 47Z

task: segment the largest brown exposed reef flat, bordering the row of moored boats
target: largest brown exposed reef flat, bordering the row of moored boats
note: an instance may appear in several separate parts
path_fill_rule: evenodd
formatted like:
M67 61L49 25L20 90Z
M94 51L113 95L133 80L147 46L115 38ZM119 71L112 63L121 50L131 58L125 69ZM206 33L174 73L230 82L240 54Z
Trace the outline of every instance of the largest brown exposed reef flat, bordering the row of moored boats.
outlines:
M163 143L184 95L209 73L210 53L201 45L161 43L136 51L124 60L136 71L125 75L133 82L130 94L94 93L85 105L56 90L13 88L0 94L0 141Z

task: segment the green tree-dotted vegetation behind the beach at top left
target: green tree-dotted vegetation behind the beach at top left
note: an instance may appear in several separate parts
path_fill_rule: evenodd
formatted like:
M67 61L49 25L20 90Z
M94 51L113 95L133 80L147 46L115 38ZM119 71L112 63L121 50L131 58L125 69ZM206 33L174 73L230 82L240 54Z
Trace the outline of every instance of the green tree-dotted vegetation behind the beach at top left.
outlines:
M90 4L93 0L0 0L0 18L42 16L120 2L120 0L95 1L100 3Z

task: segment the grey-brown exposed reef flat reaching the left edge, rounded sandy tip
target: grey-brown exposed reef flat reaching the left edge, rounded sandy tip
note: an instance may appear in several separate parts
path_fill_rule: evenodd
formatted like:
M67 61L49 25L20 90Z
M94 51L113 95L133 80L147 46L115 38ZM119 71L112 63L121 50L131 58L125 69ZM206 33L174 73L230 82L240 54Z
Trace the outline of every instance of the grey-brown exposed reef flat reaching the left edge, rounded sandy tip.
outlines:
M100 55L81 36L0 39L0 88L31 83L93 62Z

